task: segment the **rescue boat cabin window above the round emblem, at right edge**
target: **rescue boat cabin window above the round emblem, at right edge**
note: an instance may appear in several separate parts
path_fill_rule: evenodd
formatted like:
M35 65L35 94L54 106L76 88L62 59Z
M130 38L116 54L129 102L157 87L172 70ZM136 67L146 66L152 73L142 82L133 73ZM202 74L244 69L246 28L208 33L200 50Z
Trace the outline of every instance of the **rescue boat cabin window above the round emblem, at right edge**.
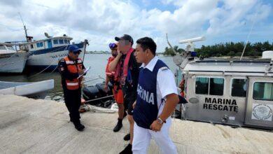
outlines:
M273 83L254 83L253 99L273 101Z

